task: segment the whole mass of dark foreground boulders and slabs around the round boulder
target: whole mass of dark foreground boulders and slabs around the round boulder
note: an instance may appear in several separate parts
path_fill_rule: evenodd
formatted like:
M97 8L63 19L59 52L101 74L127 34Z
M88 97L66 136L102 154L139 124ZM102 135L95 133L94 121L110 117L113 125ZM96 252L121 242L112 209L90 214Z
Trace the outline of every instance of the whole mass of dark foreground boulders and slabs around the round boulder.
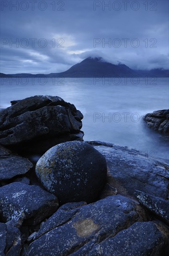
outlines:
M76 141L82 114L71 106L35 96L0 112L0 256L168 256L169 166L135 149ZM55 115L45 121L46 113ZM58 144L60 136L70 141Z

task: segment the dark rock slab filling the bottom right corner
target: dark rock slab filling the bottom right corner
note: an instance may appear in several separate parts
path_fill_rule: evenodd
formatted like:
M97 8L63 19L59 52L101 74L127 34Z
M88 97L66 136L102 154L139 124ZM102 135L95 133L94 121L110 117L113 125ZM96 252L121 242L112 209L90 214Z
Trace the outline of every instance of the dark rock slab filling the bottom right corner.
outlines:
M169 231L166 234L169 237ZM87 256L160 256L168 255L167 237L156 222L135 222L114 237L94 246ZM72 256L78 256L75 252Z

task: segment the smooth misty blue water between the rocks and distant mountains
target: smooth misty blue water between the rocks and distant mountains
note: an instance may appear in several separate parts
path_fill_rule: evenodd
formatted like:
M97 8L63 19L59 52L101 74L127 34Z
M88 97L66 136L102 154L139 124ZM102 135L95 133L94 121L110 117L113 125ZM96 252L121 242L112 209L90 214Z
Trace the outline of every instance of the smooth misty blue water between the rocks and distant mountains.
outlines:
M116 78L109 82L93 78L15 80L1 78L0 108L36 94L58 95L84 115L85 141L113 142L142 150L149 157L169 159L168 142L142 120L146 113L169 108L168 78Z

